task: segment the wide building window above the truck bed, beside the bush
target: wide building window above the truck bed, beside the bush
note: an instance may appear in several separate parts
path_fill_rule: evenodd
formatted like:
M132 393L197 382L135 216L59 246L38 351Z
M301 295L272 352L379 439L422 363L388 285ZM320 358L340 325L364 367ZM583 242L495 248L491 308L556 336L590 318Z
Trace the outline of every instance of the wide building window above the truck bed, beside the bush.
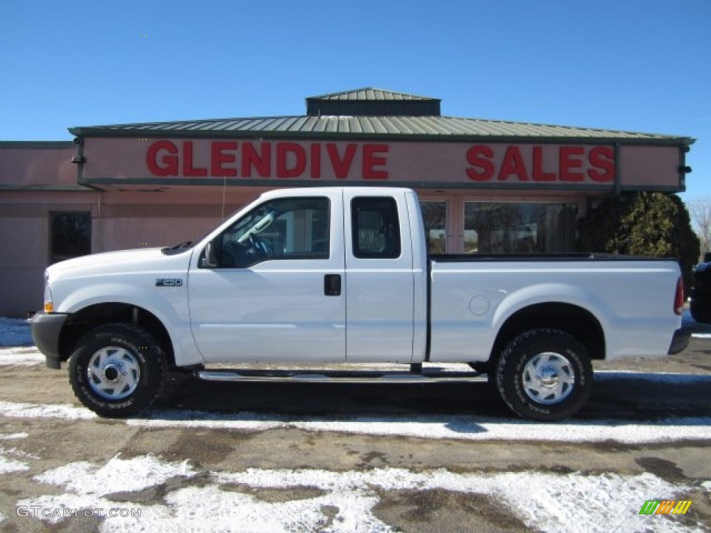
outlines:
M551 254L574 251L574 204L464 203L468 254Z

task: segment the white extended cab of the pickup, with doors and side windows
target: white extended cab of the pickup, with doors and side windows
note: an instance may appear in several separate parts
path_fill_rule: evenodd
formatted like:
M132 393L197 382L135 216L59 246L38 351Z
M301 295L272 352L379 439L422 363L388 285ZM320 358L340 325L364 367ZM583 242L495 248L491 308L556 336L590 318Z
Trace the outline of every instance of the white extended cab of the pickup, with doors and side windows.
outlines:
M422 362L419 216L404 189L262 195L192 254L191 328L205 362Z

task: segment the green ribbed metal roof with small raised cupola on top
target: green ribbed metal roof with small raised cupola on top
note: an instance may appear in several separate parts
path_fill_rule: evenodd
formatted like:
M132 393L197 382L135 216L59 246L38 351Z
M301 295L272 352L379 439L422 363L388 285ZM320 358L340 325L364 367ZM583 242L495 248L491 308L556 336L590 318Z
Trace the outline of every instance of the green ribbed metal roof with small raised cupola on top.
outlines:
M75 136L398 139L475 142L624 142L689 145L683 136L439 116L439 99L373 87L306 99L304 116L247 117L77 126ZM314 107L311 107L311 104ZM417 105L424 107L416 107ZM333 109L338 112L328 113ZM393 110L412 113L393 114ZM422 109L435 110L422 114ZM368 113L370 112L370 114Z

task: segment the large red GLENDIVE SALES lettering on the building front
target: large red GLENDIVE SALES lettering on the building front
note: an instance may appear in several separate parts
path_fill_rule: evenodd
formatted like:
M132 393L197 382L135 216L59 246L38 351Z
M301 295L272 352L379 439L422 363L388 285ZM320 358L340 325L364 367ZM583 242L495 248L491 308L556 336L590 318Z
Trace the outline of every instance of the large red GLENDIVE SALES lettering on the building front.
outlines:
M161 178L370 181L387 180L397 173L398 181L422 183L429 178L454 183L458 181L455 174L464 167L464 179L502 182L502 187L506 183L606 184L615 180L617 163L612 146L461 143L455 145L454 151L448 147L446 153L454 155L447 161L439 155L439 146L410 142L164 139L149 144L145 163L152 176ZM464 161L456 156L458 149L462 154L459 158Z

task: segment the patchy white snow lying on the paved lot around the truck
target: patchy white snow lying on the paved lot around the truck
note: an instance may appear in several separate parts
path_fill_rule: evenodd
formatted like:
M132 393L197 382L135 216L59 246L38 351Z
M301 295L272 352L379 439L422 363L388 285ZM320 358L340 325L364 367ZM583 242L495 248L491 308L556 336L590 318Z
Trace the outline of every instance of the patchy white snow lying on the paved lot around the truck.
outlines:
M698 331L695 335L711 335ZM31 344L26 321L0 318L0 346ZM43 357L33 348L0 349L0 365L41 364ZM709 376L646 374L640 372L596 372L596 379L648 379L684 384L708 380ZM72 405L26 404L0 402L0 415L15 418L82 420L96 417L88 409ZM118 423L118 422L117 422ZM272 414L217 414L203 411L156 409L144 418L128 419L131 426L207 427L233 431L267 431L272 428L297 428L304 431L339 431L352 434L419 436L461 440L518 441L619 441L650 443L658 441L699 439L711 440L710 418L678 418L653 421L584 420L560 424L532 424L512 419L476 416L367 416L308 417ZM26 433L0 434L3 443L27 438ZM0 475L18 473L30 468L32 459L16 448L0 447ZM191 485L191 480L200 482ZM410 470L385 468L364 471L331 472L326 470L262 470L205 473L188 461L171 463L154 456L112 458L104 465L86 462L48 470L36 475L38 483L51 485L50 495L20 500L16 505L38 506L48 510L38 517L56 524L67 510L129 508L140 516L125 513L107 516L100 529L105 532L144 530L151 532L230 531L264 532L390 532L389 524L378 519L374 508L383 493L392 490L449 490L486 495L493 505L500 505L518 516L528 527L548 532L586 530L590 532L658 531L687 533L700 527L683 524L675 517L639 515L643 503L650 499L685 499L691 488L673 485L651 473L619 475L604 473L452 473L434 470L415 473ZM132 493L156 488L169 480L174 483L158 503L134 503ZM57 495L58 487L63 494ZM711 480L700 484L711 492ZM300 499L267 502L252 489L275 488L294 490L311 488ZM321 494L313 495L313 489ZM250 490L252 490L250 492ZM112 500L112 494L121 492ZM258 492L257 492L258 494ZM145 496L135 497L144 502ZM60 512L58 512L60 510ZM0 522L5 517L0 516Z

